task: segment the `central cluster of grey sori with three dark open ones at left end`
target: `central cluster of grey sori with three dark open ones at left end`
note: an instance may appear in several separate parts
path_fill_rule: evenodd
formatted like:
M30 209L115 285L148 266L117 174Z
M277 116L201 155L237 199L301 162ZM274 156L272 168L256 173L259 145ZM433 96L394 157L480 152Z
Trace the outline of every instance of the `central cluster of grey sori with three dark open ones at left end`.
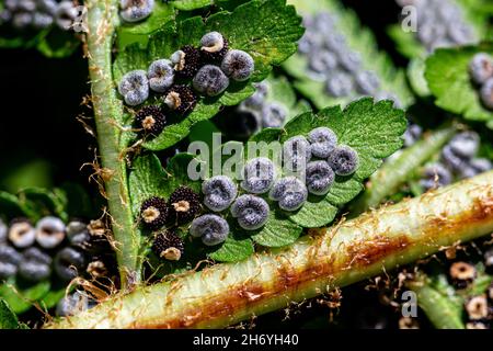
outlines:
M231 178L215 176L202 184L203 202L186 186L173 192L169 201L162 197L146 200L140 219L149 229L158 230L152 246L154 253L168 260L179 260L183 254L183 240L175 230L162 230L167 224L173 228L192 220L190 234L202 238L207 246L215 246L228 237L227 210L241 228L260 229L270 215L270 205L263 195L277 202L283 211L294 212L305 204L309 193L325 195L335 176L351 176L359 163L357 152L348 146L337 145L336 135L326 127L312 129L308 139L299 135L285 141L283 157L285 173L289 173L284 177L272 160L257 157L244 165L241 190ZM202 210L208 210L208 213L196 217Z

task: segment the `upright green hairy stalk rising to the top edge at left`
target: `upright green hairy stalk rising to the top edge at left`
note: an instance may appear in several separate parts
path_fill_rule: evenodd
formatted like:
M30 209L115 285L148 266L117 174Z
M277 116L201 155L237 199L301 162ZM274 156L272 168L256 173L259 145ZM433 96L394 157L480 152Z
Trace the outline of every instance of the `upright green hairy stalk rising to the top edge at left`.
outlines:
M112 46L118 21L118 1L89 0L88 56L98 145L112 230L116 241L122 287L139 281L137 268L139 237L135 230L128 194L125 155L122 147L122 102L116 97L112 76Z

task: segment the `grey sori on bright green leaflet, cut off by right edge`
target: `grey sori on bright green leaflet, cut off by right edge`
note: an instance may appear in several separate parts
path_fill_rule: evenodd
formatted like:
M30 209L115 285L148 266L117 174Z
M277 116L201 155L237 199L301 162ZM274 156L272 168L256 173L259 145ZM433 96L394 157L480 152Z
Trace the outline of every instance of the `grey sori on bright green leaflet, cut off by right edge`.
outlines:
M493 58L485 53L475 54L469 63L469 75L483 105L493 110Z

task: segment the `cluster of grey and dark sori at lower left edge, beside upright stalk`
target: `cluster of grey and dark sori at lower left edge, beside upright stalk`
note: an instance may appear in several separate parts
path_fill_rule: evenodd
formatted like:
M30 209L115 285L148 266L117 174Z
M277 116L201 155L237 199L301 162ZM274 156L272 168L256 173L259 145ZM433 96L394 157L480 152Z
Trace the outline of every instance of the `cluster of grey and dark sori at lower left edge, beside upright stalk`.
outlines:
M35 225L25 218L14 218L10 225L0 220L0 282L14 276L26 284L46 280L69 283L77 276L95 280L111 276L114 267L100 220L89 225L79 219L66 225L54 216ZM67 310L57 308L58 314Z

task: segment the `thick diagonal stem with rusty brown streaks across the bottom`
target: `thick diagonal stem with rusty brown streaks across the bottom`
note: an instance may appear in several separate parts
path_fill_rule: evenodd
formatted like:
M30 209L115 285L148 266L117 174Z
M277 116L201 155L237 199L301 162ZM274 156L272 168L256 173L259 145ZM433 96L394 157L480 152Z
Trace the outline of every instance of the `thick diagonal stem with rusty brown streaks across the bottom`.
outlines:
M142 286L51 328L218 328L285 308L493 230L493 171L293 246Z

